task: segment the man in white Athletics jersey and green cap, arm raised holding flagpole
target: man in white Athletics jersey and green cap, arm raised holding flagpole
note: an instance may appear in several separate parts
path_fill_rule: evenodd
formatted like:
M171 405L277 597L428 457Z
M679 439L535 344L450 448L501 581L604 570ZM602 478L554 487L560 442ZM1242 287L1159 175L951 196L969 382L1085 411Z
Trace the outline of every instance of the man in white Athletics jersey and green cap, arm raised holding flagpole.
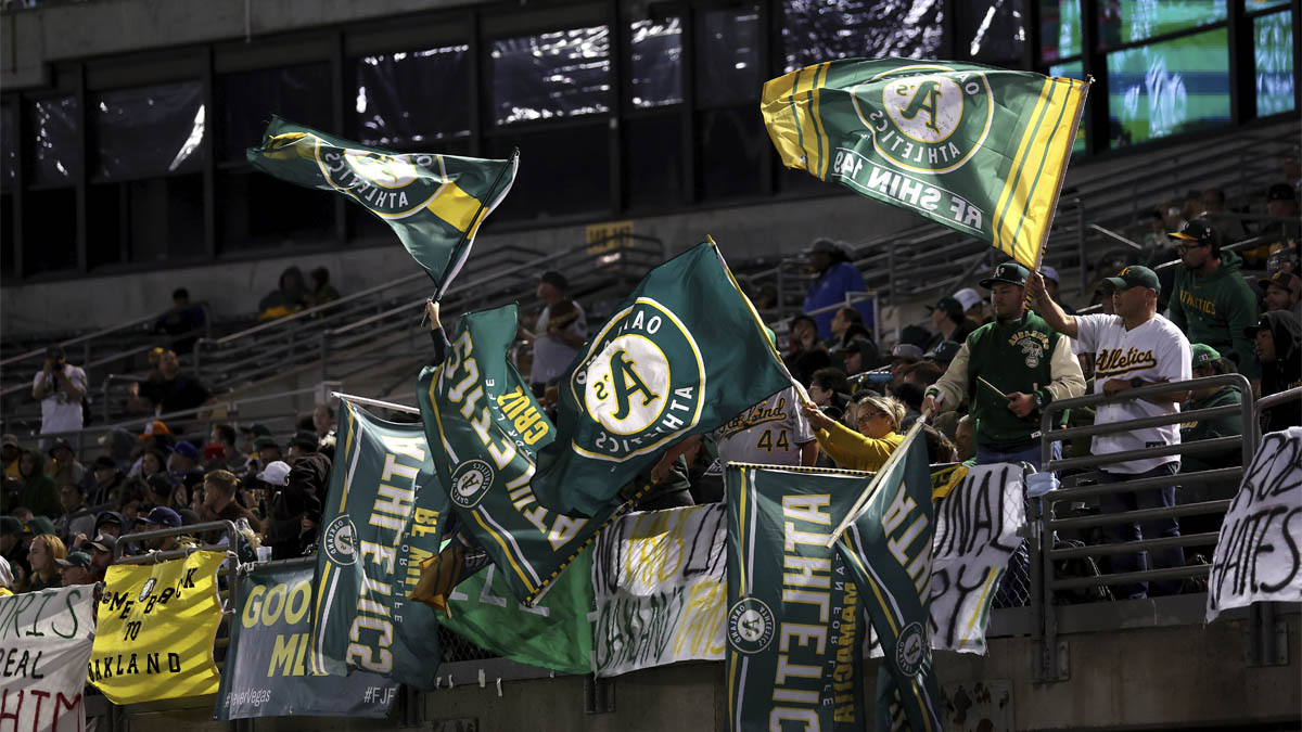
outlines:
M1126 267L1116 277L1108 277L1116 288L1112 293L1115 315L1068 315L1044 289L1044 279L1031 274L1027 292L1035 301L1049 327L1098 349L1094 358L1094 391L1116 396L1126 391L1160 382L1184 382L1191 378L1189 339L1170 320L1157 315L1157 293L1161 284L1147 267ZM1107 425L1177 414L1186 393L1161 395L1100 405L1094 422ZM1111 455L1152 447L1180 444L1180 422L1118 430L1095 435L1091 452ZM1099 469L1099 483L1117 483L1174 475L1180 472L1180 456L1165 455L1113 462ZM1163 508L1176 504L1174 486L1099 496L1104 513L1121 513L1144 508ZM1111 543L1178 537L1176 518L1160 518L1142 524L1104 526L1104 537ZM1142 572L1184 567L1185 552L1180 547L1150 550L1143 554L1124 554L1112 557L1112 570ZM1113 593L1124 598L1146 598L1150 594L1177 594L1180 581L1137 582L1113 586Z

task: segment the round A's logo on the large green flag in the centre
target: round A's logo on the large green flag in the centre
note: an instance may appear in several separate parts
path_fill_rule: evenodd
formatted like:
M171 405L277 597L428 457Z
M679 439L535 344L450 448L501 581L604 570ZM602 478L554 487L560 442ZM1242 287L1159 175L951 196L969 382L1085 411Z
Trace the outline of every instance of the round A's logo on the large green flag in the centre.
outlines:
M591 444L575 440L574 449L618 462L654 452L697 425L706 367L682 320L642 297L592 339L570 387L602 426Z

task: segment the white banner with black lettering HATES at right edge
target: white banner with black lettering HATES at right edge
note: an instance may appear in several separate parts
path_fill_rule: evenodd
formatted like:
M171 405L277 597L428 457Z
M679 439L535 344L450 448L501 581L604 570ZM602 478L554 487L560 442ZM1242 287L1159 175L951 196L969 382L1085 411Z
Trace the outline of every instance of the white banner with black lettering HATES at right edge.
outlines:
M1263 600L1302 600L1302 427L1262 438L1212 555L1208 621Z

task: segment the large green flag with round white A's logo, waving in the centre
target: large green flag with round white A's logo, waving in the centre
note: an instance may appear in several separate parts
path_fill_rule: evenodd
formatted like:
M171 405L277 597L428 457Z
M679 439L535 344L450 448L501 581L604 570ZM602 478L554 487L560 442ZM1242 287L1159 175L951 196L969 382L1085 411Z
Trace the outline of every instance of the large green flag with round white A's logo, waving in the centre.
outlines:
M719 247L699 244L648 272L575 357L534 494L598 516L664 448L790 383Z

